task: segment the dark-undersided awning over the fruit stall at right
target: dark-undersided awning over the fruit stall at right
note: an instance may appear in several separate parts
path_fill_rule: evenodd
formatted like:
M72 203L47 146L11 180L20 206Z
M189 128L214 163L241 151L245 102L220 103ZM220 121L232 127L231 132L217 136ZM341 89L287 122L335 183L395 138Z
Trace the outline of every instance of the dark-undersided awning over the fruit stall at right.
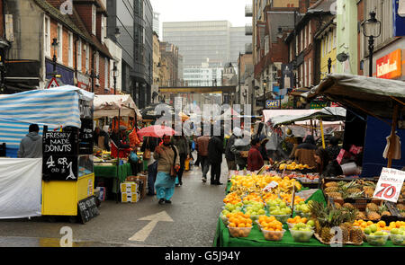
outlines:
M361 75L328 75L322 82L302 94L308 99L319 95L331 102L363 110L380 119L392 119L395 103L405 103L405 82ZM401 114L405 114L402 108Z

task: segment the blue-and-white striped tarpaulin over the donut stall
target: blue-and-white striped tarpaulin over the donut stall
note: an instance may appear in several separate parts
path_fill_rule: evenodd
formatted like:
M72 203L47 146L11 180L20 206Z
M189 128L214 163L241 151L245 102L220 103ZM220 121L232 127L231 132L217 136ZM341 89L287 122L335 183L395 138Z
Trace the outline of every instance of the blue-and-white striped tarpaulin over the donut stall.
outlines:
M20 142L31 123L49 128L81 127L79 99L91 100L93 93L76 86L0 95L0 143L6 155L16 157Z

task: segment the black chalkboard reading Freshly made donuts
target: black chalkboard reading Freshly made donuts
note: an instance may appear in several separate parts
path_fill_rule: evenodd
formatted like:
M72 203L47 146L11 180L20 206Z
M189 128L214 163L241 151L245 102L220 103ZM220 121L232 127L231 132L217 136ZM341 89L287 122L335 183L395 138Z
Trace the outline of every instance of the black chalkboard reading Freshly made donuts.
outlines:
M45 131L42 137L43 155L78 155L76 131Z

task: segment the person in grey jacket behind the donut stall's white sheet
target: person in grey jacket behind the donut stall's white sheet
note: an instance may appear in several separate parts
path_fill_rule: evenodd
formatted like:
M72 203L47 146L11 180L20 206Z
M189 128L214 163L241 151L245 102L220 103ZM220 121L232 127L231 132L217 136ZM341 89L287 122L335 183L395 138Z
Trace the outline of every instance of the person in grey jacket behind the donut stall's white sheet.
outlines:
M41 158L42 157L42 137L39 135L38 124L31 124L28 128L28 135L23 137L20 148L17 152L18 158Z

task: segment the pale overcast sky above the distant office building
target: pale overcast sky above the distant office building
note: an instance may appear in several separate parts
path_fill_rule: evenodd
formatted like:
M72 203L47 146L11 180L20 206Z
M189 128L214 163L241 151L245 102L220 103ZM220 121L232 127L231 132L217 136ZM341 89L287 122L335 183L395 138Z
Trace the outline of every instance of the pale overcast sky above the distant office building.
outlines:
M150 0L153 11L160 13L160 31L162 22L229 21L233 27L245 26L248 22L252 22L251 17L245 17L245 5L251 2L250 0Z

